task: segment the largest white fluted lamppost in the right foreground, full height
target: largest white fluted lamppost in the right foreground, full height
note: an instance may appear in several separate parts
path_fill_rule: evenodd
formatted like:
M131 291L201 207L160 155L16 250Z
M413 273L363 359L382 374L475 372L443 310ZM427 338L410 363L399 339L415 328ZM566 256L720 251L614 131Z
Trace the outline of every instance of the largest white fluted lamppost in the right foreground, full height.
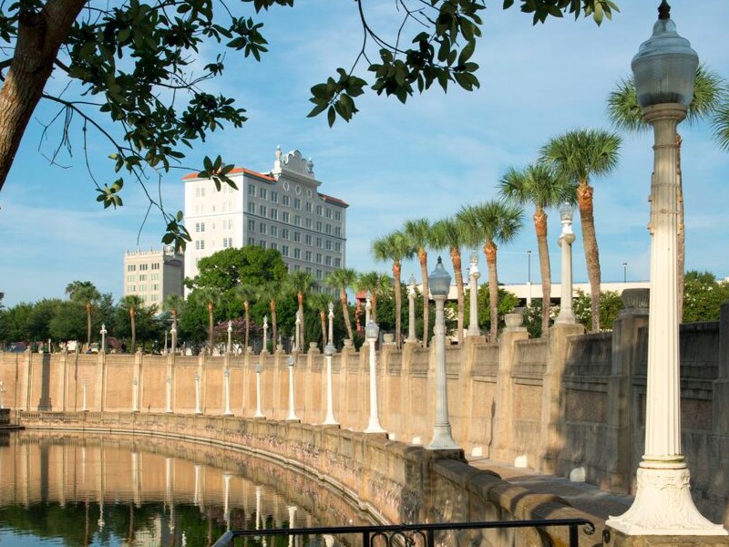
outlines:
M643 119L653 127L651 302L648 317L645 449L631 508L607 523L628 535L726 535L693 505L681 453L676 267L676 126L693 98L699 59L662 2L650 39L631 67Z

